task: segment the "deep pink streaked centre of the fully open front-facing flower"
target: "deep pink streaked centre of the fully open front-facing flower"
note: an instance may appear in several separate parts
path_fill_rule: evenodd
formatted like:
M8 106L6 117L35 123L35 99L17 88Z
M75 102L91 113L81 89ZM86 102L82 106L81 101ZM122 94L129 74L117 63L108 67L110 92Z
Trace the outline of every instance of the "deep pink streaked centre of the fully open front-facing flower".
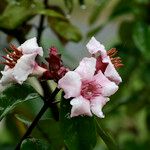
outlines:
M84 98L91 100L101 94L100 89L101 86L97 84L96 81L84 81L81 86L81 95Z

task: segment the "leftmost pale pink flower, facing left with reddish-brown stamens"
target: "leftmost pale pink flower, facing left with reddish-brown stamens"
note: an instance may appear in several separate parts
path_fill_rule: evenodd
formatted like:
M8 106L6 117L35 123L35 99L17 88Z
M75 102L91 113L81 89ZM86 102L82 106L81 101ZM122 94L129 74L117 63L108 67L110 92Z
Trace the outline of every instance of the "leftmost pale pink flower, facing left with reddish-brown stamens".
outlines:
M22 84L30 74L41 76L46 71L35 62L38 54L43 56L43 49L38 46L35 37L25 41L18 48L14 45L10 45L10 48L12 52L5 49L8 54L2 56L6 60L6 62L1 62L6 65L4 71L1 71L3 76L0 83L2 85Z

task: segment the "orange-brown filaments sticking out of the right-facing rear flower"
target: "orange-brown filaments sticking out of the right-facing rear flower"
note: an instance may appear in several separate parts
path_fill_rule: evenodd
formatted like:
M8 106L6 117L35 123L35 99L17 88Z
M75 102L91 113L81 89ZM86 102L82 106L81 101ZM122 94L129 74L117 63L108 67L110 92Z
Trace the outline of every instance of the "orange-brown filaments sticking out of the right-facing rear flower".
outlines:
M123 66L121 58L120 57L114 57L117 54L117 50L115 48L112 48L107 51L108 56L110 57L111 62L113 63L115 68L120 68Z

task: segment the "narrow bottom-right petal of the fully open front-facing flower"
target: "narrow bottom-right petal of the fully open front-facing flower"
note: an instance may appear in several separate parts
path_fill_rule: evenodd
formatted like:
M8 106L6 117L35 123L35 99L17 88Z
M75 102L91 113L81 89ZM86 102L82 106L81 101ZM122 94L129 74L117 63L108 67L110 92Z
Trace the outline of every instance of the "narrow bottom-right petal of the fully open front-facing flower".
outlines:
M91 100L91 111L93 114L100 118L104 118L104 114L102 112L103 106L106 102L109 101L109 98L98 96Z

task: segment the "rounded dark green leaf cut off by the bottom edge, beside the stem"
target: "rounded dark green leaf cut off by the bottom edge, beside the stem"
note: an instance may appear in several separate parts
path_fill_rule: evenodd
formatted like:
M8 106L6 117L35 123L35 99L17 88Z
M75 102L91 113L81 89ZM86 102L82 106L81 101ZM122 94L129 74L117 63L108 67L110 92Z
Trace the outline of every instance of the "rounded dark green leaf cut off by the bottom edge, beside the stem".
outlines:
M21 150L49 150L49 146L43 140L28 138L22 142Z

